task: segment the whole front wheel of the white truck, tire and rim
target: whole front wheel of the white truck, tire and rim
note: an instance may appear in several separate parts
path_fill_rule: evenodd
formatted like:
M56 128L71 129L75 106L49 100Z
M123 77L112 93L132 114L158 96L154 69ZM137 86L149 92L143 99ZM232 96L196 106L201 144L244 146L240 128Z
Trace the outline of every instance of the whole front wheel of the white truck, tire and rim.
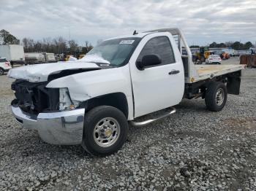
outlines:
M113 106L97 106L85 115L82 146L92 155L110 155L127 140L128 122Z

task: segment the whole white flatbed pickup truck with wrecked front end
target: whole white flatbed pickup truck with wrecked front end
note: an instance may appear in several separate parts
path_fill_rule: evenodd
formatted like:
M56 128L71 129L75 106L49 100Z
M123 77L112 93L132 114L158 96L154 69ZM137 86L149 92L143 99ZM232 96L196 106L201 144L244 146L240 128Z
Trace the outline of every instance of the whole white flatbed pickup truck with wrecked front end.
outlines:
M241 69L195 66L178 28L135 32L103 41L80 61L12 69L12 113L45 142L82 144L93 155L109 155L126 141L129 123L170 116L183 98L202 97L207 109L222 110L227 93L239 93Z

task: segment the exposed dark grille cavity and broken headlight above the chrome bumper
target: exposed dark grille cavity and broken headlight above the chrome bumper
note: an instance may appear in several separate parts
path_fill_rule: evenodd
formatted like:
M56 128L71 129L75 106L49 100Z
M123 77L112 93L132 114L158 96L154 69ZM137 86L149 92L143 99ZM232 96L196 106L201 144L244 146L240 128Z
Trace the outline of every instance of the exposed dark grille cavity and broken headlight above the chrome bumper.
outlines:
M59 112L79 108L79 101L72 101L67 87L47 88L48 82L27 82L16 80L12 83L15 100L23 112L39 114L40 112Z

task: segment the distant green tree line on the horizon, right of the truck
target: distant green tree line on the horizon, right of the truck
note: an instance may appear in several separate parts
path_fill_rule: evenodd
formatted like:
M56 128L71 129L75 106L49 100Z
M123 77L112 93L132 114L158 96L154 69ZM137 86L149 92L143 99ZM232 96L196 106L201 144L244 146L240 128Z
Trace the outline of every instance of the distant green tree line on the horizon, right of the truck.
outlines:
M200 46L198 45L192 45L190 46L191 48L199 48ZM235 50L249 50L249 48L251 47L255 47L252 42L246 42L246 43L241 43L241 42L221 42L221 43L217 43L217 42L212 42L211 44L208 45L208 47L232 47Z

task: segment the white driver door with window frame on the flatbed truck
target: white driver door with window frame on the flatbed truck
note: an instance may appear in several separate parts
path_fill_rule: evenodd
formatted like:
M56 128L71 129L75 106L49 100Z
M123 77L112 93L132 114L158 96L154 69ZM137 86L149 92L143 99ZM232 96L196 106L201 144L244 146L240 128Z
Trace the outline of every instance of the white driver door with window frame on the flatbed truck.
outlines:
M181 55L173 37L164 34L145 36L130 60L135 117L176 105L183 97L184 69ZM145 55L158 55L161 63L140 70L136 62L142 61Z

